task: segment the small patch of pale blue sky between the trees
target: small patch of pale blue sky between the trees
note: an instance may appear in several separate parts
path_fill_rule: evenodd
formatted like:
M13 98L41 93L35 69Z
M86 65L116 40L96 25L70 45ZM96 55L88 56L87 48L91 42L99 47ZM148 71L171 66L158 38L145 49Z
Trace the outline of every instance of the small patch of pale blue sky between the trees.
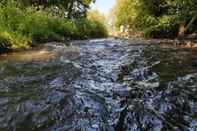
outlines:
M103 14L108 14L110 9L115 5L116 0L96 0L91 7L96 9Z

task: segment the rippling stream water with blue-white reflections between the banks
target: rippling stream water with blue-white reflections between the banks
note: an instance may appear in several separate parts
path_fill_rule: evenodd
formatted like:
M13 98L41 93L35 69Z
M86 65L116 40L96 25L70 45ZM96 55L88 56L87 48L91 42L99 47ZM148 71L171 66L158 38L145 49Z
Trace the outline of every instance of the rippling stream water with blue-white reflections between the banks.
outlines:
M0 57L0 131L196 131L197 50L101 39Z

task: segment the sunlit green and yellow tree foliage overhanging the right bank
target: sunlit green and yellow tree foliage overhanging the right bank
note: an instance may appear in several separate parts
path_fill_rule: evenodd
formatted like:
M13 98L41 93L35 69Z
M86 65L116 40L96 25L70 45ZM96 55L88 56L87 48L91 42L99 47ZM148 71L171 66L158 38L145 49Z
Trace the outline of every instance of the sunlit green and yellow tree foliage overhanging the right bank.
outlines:
M147 37L175 37L180 25L197 29L196 0L118 0L113 13L117 29L125 25Z

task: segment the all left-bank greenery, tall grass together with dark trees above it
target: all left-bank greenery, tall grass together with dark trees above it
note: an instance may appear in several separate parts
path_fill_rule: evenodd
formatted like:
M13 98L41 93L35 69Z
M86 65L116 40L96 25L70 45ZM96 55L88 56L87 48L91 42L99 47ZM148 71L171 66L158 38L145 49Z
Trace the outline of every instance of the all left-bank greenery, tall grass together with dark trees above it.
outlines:
M96 17L87 17L91 2L1 1L0 53L49 41L107 36L107 30L101 21Z

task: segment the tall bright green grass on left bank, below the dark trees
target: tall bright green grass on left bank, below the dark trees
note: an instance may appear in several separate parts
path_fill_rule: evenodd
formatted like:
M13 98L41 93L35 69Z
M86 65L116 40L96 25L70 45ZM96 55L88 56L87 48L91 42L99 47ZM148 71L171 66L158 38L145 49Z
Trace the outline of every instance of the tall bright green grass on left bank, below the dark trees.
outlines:
M0 5L0 52L66 39L106 37L105 26L93 19L68 20L15 2Z

